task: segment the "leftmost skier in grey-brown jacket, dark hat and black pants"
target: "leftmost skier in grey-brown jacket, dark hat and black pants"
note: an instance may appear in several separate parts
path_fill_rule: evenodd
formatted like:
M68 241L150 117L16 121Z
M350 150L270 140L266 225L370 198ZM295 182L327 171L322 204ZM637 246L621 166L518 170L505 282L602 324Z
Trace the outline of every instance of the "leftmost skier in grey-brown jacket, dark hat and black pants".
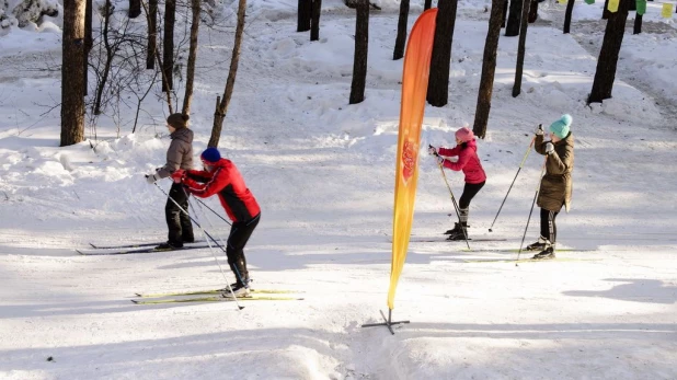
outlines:
M167 163L162 168L156 169L153 174L147 174L146 181L154 184L160 179L167 179L175 171L193 169L193 130L188 128L188 115L171 114L167 118L167 128L170 131L170 147L167 150ZM172 199L174 201L172 201ZM169 198L164 205L164 217L169 229L168 241L158 245L158 250L175 250L183 247L183 243L195 241L193 235L193 224L187 214L183 212L181 206L188 211L188 195L182 184L172 183Z

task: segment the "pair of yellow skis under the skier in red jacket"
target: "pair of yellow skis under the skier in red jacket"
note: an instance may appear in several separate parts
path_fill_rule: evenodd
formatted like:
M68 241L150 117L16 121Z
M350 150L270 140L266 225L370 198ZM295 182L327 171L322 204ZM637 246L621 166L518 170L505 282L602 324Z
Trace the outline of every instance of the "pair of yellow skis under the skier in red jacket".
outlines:
M295 296L299 291L295 290L274 290L274 289L250 289L246 297L238 297L238 301L302 301L303 298ZM207 289L194 291L169 291L158 293L136 293L139 299L133 299L136 304L161 304L181 302L228 302L236 299L230 297L229 289ZM169 297L169 298L168 298ZM152 299L151 299L152 298ZM159 299L162 298L162 299Z

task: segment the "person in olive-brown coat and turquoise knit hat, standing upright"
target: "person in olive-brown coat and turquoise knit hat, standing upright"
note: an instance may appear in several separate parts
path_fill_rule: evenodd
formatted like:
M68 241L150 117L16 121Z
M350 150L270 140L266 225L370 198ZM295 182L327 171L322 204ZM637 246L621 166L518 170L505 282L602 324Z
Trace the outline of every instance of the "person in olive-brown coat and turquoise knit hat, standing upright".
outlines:
M550 125L550 140L543 140L543 129L536 130L533 148L547 156L546 175L541 179L537 205L541 208L541 233L538 241L527 246L540 251L533 258L554 258L556 226L555 217L564 206L571 205L572 172L574 170L574 137L571 133L572 117L566 114Z

